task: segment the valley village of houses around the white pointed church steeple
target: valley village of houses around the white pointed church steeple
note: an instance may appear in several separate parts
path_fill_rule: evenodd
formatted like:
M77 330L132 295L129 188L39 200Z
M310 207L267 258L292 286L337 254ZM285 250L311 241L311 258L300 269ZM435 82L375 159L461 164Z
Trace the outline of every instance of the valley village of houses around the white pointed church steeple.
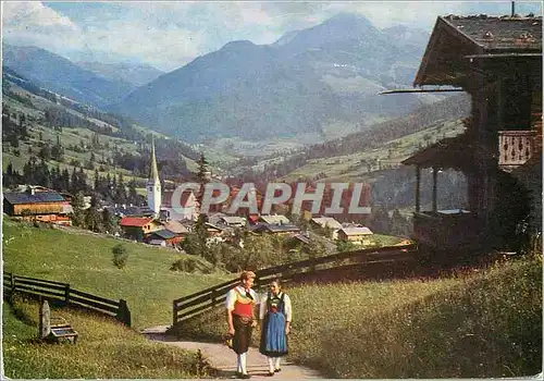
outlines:
M146 243L157 246L177 247L184 236L194 232L195 225L200 217L201 193L191 189L184 190L177 201L178 206L184 208L180 212L180 208L172 206L172 189L161 189L159 172L157 170L157 159L154 149L150 158L151 173L147 183L147 206L138 207L133 205L112 205L101 202L97 211L102 212L104 209L110 211L112 219L115 220L119 226L119 232L112 234L127 239ZM212 181L211 173L206 171L207 180ZM295 185L296 186L296 185ZM308 193L316 189L307 187ZM332 199L333 192L331 187L326 187L323 202L320 202L320 211L323 212L327 202ZM349 242L354 245L368 247L374 245L372 239L373 233L369 228L355 222L341 223L334 217L316 216L311 213L312 202L302 201L302 217L307 221L302 229L292 222L286 216L273 214L251 214L249 208L239 208L236 216L226 214L231 202L236 198L239 188L231 190L228 198L224 202L211 205L207 221L205 222L209 242L232 242L234 231L250 232L251 234L270 234L283 237L290 237L305 245L309 243L309 228L319 230L325 238L330 238L334 244L336 241ZM260 209L263 202L263 195L258 189L255 189L255 198L258 208ZM368 202L368 187L363 193L363 205ZM342 204L349 202L353 192L348 192L341 200ZM344 195L343 195L344 196ZM71 214L73 208L71 206L72 195L69 193L59 193L44 186L36 185L20 185L18 190L4 192L4 212L15 219L26 221L37 221L44 223L72 225ZM359 198L357 199L359 202ZM85 206L83 210L90 208L91 197L84 197ZM293 202L293 198L287 204ZM364 216L370 214L370 208L364 208ZM353 219L361 216L353 214ZM298 216L296 216L299 220ZM326 235L326 236L325 236Z

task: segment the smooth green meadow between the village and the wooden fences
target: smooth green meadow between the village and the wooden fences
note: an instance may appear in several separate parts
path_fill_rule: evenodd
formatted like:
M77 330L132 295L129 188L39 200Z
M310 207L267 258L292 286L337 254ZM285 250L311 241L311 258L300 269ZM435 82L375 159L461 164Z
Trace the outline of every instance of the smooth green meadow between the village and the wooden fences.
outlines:
M78 291L111 299L127 300L133 327L169 324L172 300L228 280L224 273L170 271L177 259L174 250L126 242L124 269L113 262L112 247L119 239L88 232L69 233L3 219L3 269L18 275L70 283ZM205 268L206 262L199 261ZM209 266L208 266L209 267Z

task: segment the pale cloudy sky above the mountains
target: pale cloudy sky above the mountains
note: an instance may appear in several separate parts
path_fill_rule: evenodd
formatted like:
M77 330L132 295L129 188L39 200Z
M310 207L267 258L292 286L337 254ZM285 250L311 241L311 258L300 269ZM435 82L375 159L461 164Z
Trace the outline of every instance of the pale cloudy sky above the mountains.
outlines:
M339 12L361 14L378 28L400 24L431 33L437 15L504 15L510 8L510 1L2 1L2 40L74 62L146 63L169 72L228 41L271 44ZM542 3L516 1L516 12L540 15Z

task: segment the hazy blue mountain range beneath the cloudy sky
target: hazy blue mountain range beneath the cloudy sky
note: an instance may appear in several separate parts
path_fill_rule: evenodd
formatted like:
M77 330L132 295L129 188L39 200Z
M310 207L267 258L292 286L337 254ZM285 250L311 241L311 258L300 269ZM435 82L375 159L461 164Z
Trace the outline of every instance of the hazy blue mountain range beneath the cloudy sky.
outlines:
M38 48L4 45L3 64L77 101L107 108L165 134L197 143L323 135L331 125L375 121L436 100L376 96L411 87L429 34L375 28L338 14L270 45L232 41L173 72L73 63Z

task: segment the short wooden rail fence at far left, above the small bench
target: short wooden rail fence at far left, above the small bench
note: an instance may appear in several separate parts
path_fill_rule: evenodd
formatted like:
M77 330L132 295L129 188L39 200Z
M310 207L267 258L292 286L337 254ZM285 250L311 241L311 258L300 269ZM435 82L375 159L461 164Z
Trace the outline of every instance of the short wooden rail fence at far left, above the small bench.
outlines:
M13 293L22 293L33 298L44 298L57 305L90 309L95 312L112 316L125 325L131 327L131 311L126 300L110 300L101 296L84 293L72 288L69 283L4 272L3 296L10 297Z

